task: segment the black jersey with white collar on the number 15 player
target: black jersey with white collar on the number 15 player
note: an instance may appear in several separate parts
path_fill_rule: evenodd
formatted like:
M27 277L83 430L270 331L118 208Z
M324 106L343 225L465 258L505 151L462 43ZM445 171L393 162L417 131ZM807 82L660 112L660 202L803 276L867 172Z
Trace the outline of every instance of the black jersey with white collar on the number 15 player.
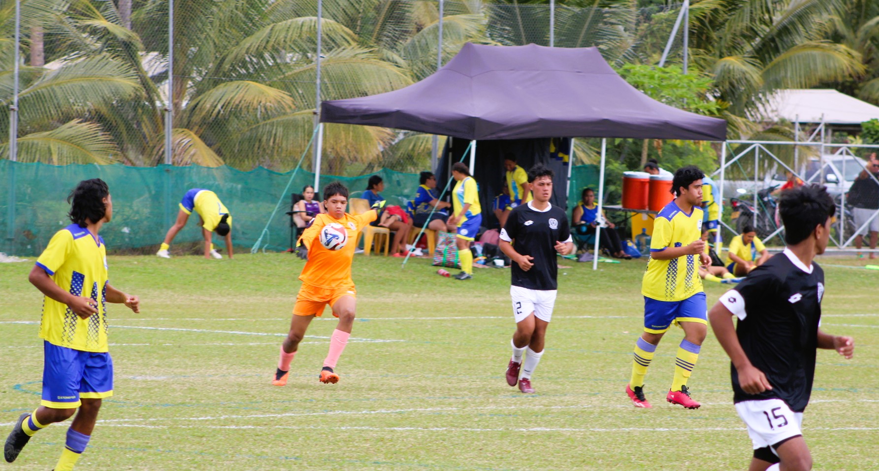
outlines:
M806 409L815 377L823 296L821 267L813 262L807 269L787 249L723 294L720 301L738 317L738 343L772 385L772 390L749 395L739 387L732 366L734 402L778 398L795 412Z

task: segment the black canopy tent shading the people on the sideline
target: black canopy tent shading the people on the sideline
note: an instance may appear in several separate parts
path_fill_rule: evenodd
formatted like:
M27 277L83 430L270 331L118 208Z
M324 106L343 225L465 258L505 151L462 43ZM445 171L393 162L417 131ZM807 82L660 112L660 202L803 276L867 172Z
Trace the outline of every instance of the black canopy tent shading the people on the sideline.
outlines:
M393 127L467 141L726 139L725 120L685 112L648 97L619 76L596 47L534 44L504 47L468 43L445 66L418 83L379 95L323 102L321 121ZM604 196L605 149L602 142L599 207ZM548 156L535 159L546 160ZM471 152L469 167L475 176L501 173L495 159L486 162L490 168L476 160L476 152ZM556 201L559 203L564 204Z

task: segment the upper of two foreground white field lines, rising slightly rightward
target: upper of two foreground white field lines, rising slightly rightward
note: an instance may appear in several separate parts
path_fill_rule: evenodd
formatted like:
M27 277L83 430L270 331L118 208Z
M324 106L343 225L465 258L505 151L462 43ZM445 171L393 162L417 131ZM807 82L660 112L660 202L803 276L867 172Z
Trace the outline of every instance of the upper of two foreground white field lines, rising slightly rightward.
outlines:
M879 402L879 399L866 399L860 401L851 401L847 399L817 399L814 401L810 401L810 403L817 402ZM702 402L702 405L708 406L730 406L732 409L732 404L730 402ZM205 417L151 417L151 418L114 418L114 419L99 419L98 424L119 424L119 423L129 423L129 422L168 422L168 421L194 421L194 420L225 420L225 419L248 419L248 418L269 418L269 417L315 417L315 416L372 416L377 414L401 414L407 412L447 412L447 411L469 411L469 410L525 410L525 409L631 409L632 406L628 404L579 404L579 405L570 405L570 406L540 406L540 405L515 405L515 406L484 406L484 407L429 407L429 408L414 408L414 409L376 409L376 410L323 410L319 412L288 412L285 414L253 414L246 416L205 416ZM14 425L15 423L10 422L8 424L0 424L0 426L8 426ZM177 427L178 425L174 425ZM461 429L463 430L463 429ZM510 429L512 430L512 429ZM586 429L585 429L586 430ZM618 429L608 429L608 430L618 430ZM636 430L636 429L633 429ZM637 429L640 430L640 429ZM644 429L644 430L654 430L654 429ZM665 429L663 429L665 430ZM683 430L683 429L682 429ZM692 429L687 429L692 430ZM706 429L708 430L708 429ZM723 429L710 429L710 430L723 430ZM732 429L730 429L732 430ZM738 429L735 429L738 430ZM844 430L844 429L840 429ZM865 429L867 430L867 429ZM872 430L872 429L870 429ZM877 429L879 430L879 429Z

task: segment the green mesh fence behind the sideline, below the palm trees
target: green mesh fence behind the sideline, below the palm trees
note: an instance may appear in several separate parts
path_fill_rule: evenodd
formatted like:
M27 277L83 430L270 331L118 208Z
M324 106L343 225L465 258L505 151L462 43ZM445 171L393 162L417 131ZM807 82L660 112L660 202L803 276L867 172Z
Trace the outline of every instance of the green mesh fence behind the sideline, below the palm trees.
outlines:
M413 198L418 188L418 175L381 170L361 177L321 176L321 185L339 181L353 197L367 188L371 175L380 175L385 183L382 195L390 204L403 204ZM69 225L67 212L69 192L80 180L102 178L113 195L113 221L102 230L111 250L148 250L162 243L165 233L176 220L178 202L192 188L206 188L217 193L233 215L232 236L243 250L256 243L272 209L278 203L291 172L279 173L260 167L241 171L230 167L168 166L129 167L125 165L48 165L44 163L13 163L0 160L0 214L4 215L2 251L10 255L39 255L54 233ZM291 185L301 192L304 185L314 184L314 174L299 171ZM586 185L598 184L595 165L574 167L570 182L569 207L578 199ZM279 214L263 237L265 250L287 250L289 247L289 195ZM219 243L219 237L215 243ZM188 221L174 244L196 243L201 240L197 221Z

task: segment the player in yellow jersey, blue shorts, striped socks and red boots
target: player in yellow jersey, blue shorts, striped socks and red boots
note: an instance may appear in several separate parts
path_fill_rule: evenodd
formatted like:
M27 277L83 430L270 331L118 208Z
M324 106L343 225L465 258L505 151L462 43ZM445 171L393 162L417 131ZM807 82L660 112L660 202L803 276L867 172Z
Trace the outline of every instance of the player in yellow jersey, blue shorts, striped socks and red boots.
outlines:
M635 345L632 377L626 394L636 407L650 408L644 398L644 375L653 359L659 340L672 324L684 330L684 339L675 359L674 380L665 399L686 409L697 409L686 388L699 358L701 344L708 330L705 292L698 265L711 264L701 240L702 177L694 166L674 173L672 192L676 198L657 214L650 241L650 262L644 272L641 292L644 296L644 331Z

